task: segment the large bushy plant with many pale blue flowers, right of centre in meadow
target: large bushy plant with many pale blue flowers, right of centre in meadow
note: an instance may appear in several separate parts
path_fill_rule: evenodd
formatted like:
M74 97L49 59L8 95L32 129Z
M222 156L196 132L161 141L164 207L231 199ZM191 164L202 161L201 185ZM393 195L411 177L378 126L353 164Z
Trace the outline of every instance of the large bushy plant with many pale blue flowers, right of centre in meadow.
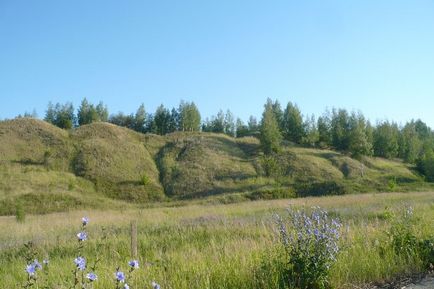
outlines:
M287 285L300 289L330 288L330 268L339 252L340 223L320 208L310 214L289 210L288 221L277 216L277 223L287 255L283 270Z

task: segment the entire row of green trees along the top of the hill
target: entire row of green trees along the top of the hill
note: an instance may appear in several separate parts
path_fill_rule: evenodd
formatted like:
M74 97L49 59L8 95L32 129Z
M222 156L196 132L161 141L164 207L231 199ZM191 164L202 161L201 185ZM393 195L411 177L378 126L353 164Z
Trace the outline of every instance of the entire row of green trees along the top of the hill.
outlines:
M202 121L195 103L185 101L171 109L160 105L154 113L147 113L144 104L141 104L135 113L110 115L102 102L94 105L86 98L77 113L72 103L49 103L44 120L64 129L103 121L159 135L175 131L203 131L233 137L254 136L260 139L266 154L278 153L282 143L286 142L334 149L354 158L400 158L416 164L422 173L434 180L434 133L421 120L411 120L403 126L387 120L373 125L361 112L336 108L316 118L314 115L303 115L292 102L282 108L279 101L271 99L267 99L259 122L256 117L250 116L244 123L229 110L220 110Z

